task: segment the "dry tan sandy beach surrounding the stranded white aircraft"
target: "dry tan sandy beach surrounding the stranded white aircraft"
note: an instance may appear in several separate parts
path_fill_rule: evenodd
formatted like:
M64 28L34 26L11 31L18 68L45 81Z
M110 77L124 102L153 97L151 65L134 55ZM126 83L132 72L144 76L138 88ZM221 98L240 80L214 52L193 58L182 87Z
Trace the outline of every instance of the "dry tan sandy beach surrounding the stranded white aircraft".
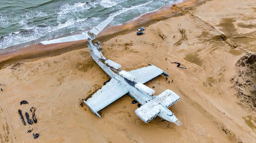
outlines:
M1 142L255 142L254 98L243 96L255 94L255 62L246 61L256 52L255 0L191 0L163 11L176 16L147 23L142 36L135 35L137 27L112 36L102 48L105 57L121 64L122 70L151 63L167 72L167 81L161 75L146 85L155 86L156 94L171 89L181 96L170 107L183 122L181 126L159 117L144 123L134 113L137 105L131 104L128 95L102 109L102 118L94 115L81 99L101 88L109 77L83 42L76 42L71 46L80 44L75 47L80 49L53 57L20 51L0 57L0 82L5 84L0 92ZM248 58L238 62L245 55ZM253 70L247 74L248 65ZM29 105L20 106L22 100ZM24 117L26 111L31 116L30 107L37 108L38 123L24 126L18 109ZM40 134L38 139L27 133L29 127Z

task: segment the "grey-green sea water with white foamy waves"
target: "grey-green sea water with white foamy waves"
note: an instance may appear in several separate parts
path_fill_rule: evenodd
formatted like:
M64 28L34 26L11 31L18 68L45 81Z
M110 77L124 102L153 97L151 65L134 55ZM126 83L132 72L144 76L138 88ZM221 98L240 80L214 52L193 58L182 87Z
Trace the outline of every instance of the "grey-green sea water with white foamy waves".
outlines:
M110 25L120 25L175 1L1 0L0 49L87 31L110 15Z

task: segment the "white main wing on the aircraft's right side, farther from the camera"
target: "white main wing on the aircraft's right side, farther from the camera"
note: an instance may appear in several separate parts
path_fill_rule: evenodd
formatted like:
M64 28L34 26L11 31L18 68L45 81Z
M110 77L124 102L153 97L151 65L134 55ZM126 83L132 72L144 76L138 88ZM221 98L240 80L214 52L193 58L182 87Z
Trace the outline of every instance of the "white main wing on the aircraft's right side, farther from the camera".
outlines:
M166 72L157 68L156 66L154 66L152 64L149 64L149 65L150 66L129 71L129 73L131 73L132 75L134 75L136 77L135 81L137 83L140 82L140 83L143 84L143 83L155 78L156 76L158 76L160 74L164 74L165 76L169 76Z

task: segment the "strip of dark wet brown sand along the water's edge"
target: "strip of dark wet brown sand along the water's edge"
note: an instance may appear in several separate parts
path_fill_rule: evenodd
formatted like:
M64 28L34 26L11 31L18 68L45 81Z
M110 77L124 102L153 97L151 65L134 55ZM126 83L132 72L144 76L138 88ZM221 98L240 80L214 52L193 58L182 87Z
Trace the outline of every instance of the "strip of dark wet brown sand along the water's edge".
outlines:
M201 3L208 0L186 0L177 5L192 7L198 6ZM101 41L109 40L115 36L124 35L126 33L135 31L138 27L147 27L161 20L165 20L174 16L180 16L183 12L177 9L173 4L167 4L156 11L152 11L139 16L138 18L131 20L122 25L109 26L105 28L99 35L98 39ZM145 20L146 19L146 20ZM51 45L36 44L28 47L24 47L18 51L6 52L8 48L1 49L3 53L0 55L0 69L13 64L15 62L24 62L29 60L40 59L44 57L51 57L60 55L72 50L81 49L87 47L87 40L72 41Z

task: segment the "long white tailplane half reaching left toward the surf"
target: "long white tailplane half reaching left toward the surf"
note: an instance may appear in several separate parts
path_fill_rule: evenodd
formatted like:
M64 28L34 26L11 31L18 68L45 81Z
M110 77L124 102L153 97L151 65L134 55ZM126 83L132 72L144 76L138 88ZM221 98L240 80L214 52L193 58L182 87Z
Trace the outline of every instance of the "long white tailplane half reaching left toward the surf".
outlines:
M85 40L85 39L88 39L88 37L89 36L88 36L87 32L86 33L84 32L80 35L66 36L66 37L62 37L62 38L58 38L58 39L46 40L46 41L42 41L40 43L42 43L44 45L48 45L48 44L54 44L54 43Z

